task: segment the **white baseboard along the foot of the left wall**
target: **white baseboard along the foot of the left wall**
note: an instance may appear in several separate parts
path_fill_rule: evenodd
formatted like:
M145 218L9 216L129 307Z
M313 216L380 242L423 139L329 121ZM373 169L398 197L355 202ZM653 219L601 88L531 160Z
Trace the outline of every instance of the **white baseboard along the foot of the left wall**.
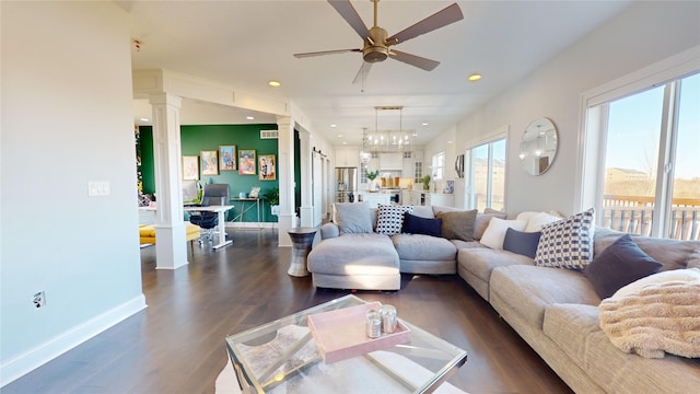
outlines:
M127 317L148 308L145 297L140 294L48 341L14 357L0 366L0 387L42 367L48 361L122 322Z

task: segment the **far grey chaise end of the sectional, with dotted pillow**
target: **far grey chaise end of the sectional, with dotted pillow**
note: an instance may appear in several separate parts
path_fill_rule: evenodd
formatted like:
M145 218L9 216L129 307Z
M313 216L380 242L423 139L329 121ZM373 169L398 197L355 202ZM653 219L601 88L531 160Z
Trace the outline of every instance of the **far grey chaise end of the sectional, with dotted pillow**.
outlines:
M441 236L404 231L406 213L418 221L433 220L434 211L444 210L450 208L381 206L373 209L365 202L335 204L332 222L322 227L322 242L307 257L314 286L399 290L401 273L456 274L455 243Z

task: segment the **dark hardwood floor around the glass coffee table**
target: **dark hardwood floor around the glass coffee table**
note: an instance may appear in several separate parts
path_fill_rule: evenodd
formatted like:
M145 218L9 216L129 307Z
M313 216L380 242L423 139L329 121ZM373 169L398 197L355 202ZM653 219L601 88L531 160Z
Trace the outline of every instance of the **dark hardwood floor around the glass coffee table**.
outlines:
M233 230L232 246L194 246L190 264L155 269L141 250L149 308L0 390L11 393L213 393L224 337L338 298L287 275L277 231ZM470 394L570 393L569 387L458 276L405 276L397 292L359 291L468 351L450 382Z

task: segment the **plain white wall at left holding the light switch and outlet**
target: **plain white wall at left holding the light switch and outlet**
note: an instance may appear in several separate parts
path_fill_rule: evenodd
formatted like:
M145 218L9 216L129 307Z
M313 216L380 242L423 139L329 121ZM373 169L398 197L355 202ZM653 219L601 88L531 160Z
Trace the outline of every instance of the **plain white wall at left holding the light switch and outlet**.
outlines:
M102 1L0 4L4 385L145 303L127 14ZM89 197L91 181L109 195Z

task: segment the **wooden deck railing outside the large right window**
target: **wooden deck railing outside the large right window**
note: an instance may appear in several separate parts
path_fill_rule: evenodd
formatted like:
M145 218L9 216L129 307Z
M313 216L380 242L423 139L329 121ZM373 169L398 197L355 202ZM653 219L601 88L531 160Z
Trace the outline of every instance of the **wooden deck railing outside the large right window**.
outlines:
M672 225L668 237L700 240L700 199L675 198L670 209ZM653 197L604 196L602 227L650 235L653 221Z

